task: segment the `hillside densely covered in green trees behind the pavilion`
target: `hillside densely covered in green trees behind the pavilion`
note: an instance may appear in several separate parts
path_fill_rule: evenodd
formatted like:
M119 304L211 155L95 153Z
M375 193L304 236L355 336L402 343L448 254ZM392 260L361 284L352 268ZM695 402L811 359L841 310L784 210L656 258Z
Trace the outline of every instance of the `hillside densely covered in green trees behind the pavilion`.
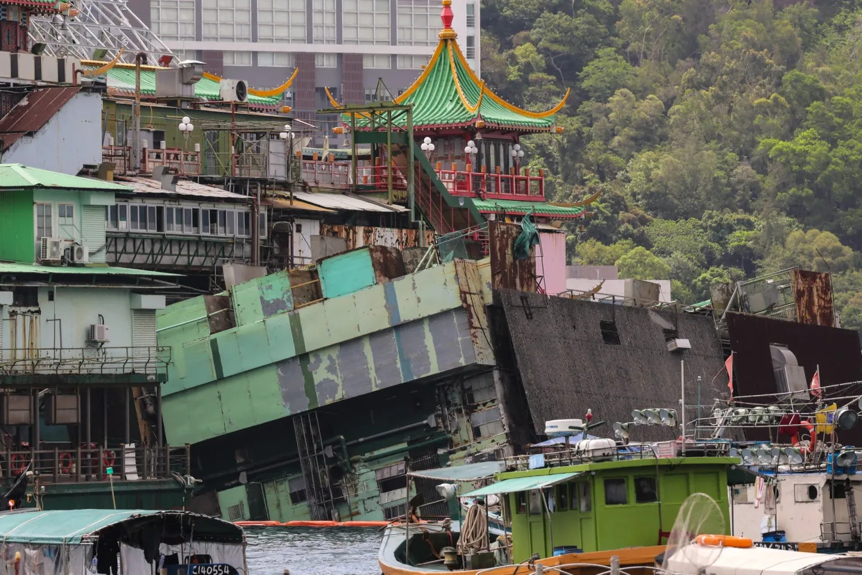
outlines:
M714 282L831 271L862 327L862 0L483 0L482 71L565 134L525 142L556 200L601 189L573 263Z

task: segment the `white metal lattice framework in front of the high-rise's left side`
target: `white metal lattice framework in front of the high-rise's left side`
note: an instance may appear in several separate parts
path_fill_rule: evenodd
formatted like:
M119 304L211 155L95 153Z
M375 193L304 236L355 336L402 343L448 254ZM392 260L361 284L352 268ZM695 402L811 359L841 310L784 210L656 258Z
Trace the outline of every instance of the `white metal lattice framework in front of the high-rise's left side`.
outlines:
M28 28L31 44L44 44L45 53L58 58L113 58L120 49L122 62L134 63L138 53L147 54L150 64L175 54L153 31L134 15L125 0L73 0L72 16L49 13L32 16Z

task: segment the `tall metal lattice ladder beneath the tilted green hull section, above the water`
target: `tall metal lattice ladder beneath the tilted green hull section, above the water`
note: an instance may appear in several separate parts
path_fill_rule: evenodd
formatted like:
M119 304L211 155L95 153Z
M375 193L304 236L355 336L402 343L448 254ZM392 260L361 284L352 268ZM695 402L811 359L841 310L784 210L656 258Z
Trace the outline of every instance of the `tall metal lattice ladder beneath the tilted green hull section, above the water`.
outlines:
M297 435L299 465L303 469L305 492L309 512L315 521L332 519L334 497L329 484L326 459L323 455L320 421L315 411L301 413L293 418Z

